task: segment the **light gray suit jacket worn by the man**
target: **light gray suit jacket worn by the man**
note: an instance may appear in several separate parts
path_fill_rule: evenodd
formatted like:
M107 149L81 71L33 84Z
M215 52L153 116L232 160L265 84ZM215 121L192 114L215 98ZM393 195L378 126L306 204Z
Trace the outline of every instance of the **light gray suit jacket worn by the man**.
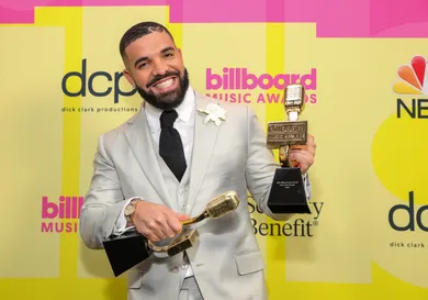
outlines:
M218 101L196 96L198 108L211 102ZM267 148L256 114L248 105L222 102L221 107L227 110L227 119L219 126L204 124L205 115L196 112L188 204L194 216L211 199L235 190L240 205L203 224L199 243L187 254L204 300L263 300L264 263L250 224L247 189L272 219L291 215L273 215L267 208L279 165ZM115 221L132 197L179 211L157 164L144 112L99 137L93 178L80 216L80 234L88 247L102 248L102 241L116 231ZM178 299L184 273L174 268L184 263L183 255L153 256L128 271L128 299Z

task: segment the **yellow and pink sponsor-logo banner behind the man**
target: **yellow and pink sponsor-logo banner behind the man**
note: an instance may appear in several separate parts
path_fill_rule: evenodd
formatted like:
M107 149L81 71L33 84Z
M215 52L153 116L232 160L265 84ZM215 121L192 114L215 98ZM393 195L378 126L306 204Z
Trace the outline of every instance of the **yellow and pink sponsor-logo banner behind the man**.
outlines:
M193 88L263 127L281 86L306 88L312 214L274 222L249 197L270 299L428 299L428 4L323 2L1 0L0 299L126 299L78 219L98 136L139 109L119 41L146 20Z

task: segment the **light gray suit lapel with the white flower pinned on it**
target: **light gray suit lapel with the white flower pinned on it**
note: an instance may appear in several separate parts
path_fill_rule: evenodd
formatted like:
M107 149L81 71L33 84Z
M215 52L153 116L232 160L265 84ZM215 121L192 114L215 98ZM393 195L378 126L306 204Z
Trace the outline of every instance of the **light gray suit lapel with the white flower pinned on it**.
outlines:
M205 173L211 162L211 156L217 140L218 126L213 122L203 123L205 114L198 111L199 108L205 109L212 101L196 93L196 111L194 124L194 142L192 151L192 163L190 169L190 190L188 205L193 207L199 190L204 180Z

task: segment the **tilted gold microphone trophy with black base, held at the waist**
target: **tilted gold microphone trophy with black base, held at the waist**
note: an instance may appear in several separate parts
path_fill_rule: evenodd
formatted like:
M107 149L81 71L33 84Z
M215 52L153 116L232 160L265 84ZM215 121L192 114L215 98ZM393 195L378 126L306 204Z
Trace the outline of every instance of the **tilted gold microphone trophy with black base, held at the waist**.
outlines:
M188 229L187 226L196 224L205 219L222 218L237 209L239 202L238 195L235 191L226 191L214 198L206 204L205 210L200 215L182 221L183 231L165 246L147 240L135 227L119 236L111 236L103 241L105 254L114 276L117 277L149 258L153 253L164 253L167 256L173 256L194 246L199 240L199 232L196 229ZM169 238L166 238L161 241L161 244L168 241Z

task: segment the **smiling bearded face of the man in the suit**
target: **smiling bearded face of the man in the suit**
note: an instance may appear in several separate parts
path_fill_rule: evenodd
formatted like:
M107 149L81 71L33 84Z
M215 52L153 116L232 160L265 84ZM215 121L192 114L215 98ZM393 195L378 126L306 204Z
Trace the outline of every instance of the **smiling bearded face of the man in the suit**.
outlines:
M166 32L154 32L126 48L124 76L151 105L169 110L184 99L188 73L180 49Z

